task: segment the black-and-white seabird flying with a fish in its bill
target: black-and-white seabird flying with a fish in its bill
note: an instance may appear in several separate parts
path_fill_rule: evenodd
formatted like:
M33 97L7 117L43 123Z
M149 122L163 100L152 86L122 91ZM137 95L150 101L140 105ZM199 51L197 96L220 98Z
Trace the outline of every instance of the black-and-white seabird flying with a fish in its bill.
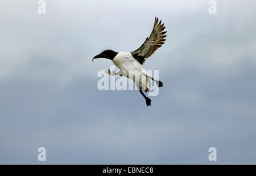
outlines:
M151 100L144 95L144 92L148 92L151 83L150 79L155 81L158 87L163 87L163 83L160 80L154 80L151 76L147 74L145 68L142 67L143 63L146 61L146 58L150 57L155 50L160 48L166 39L166 31L164 30L164 23L162 20L158 21L158 18L155 18L154 27L152 29L150 37L146 38L141 47L132 52L115 52L113 50L107 49L102 51L100 54L96 55L94 59L97 58L106 58L112 60L115 66L120 70L118 72L106 72L109 75L117 76L126 76L127 78L132 79L135 82L139 92L145 98L147 106L151 106Z

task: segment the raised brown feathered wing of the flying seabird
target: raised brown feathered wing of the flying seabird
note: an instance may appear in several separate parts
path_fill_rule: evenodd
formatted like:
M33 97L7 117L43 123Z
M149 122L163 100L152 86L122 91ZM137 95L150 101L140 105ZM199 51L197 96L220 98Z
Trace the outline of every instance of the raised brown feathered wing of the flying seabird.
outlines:
M166 31L163 32L164 28L166 27L164 27L164 23L161 23L162 20L160 20L158 23L158 18L156 17L150 37L146 38L139 49L131 52L131 55L133 55L133 57L137 59L139 63L143 64L146 58L150 57L150 55L152 55L155 50L160 48L164 44L164 41L166 41L166 39L164 39L164 37L166 37L166 35L164 35Z

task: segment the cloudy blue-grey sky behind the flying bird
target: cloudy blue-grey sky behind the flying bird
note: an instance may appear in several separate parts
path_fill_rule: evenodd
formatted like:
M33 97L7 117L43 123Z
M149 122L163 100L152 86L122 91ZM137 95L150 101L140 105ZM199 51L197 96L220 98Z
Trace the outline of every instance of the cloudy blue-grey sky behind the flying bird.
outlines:
M256 163L255 1L46 2L1 1L0 164ZM164 85L151 106L99 91L113 63L94 55L139 48L155 16L167 40L143 65Z

